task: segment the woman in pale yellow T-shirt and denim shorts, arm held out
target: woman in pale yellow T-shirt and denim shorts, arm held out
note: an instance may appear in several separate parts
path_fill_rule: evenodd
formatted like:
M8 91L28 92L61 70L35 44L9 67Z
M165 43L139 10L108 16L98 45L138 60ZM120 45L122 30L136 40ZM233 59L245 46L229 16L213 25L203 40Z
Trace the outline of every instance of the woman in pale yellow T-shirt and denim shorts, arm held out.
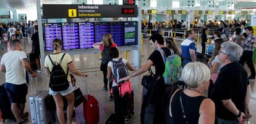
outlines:
M50 76L51 72L53 71L53 64L58 63L60 64L62 70L66 73L67 76L67 81L69 83L69 87L66 90L60 90L57 91L56 88L58 87L54 87L51 86L50 87L50 83L49 83L49 95L53 95L54 101L56 103L56 109L57 109L57 115L59 118L59 122L61 124L65 123L65 118L64 118L64 112L63 112L63 100L62 100L62 96L65 96L67 99L67 123L74 123L72 122L72 113L74 110L74 102L75 102L75 98L74 98L74 92L73 92L73 87L72 87L72 83L71 83L71 78L70 78L70 74L69 70L77 75L77 76L88 76L88 74L83 74L80 73L79 71L77 71L77 69L75 69L75 66L72 62L72 59L70 57L70 55L68 53L62 53L61 49L62 49L62 41L60 39L54 39L53 43L53 53L51 53L50 55L45 57L45 71L46 71L46 76ZM51 79L50 79L51 80ZM52 83L52 82L51 82ZM55 90L53 90L53 89Z

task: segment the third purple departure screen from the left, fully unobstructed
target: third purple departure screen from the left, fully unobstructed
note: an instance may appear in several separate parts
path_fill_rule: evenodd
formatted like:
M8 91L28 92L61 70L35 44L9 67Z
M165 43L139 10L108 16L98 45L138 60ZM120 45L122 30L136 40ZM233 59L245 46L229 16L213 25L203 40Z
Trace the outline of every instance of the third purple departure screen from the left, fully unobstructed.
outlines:
M94 23L79 23L80 48L92 48L94 44Z

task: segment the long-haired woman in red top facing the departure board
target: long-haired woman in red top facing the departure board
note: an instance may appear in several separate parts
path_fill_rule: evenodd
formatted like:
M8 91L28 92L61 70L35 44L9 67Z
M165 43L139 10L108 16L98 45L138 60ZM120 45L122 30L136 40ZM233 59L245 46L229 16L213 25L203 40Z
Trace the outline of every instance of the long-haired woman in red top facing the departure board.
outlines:
M103 72L103 82L105 91L108 91L108 79L106 78L108 74L108 62L112 60L111 56L109 56L109 48L116 47L116 43L114 43L112 35L110 33L104 34L100 43L93 44L94 48L98 48L102 52L102 61L100 65L100 70ZM111 91L112 82L109 82L109 91ZM110 95L109 98L113 100L113 96Z

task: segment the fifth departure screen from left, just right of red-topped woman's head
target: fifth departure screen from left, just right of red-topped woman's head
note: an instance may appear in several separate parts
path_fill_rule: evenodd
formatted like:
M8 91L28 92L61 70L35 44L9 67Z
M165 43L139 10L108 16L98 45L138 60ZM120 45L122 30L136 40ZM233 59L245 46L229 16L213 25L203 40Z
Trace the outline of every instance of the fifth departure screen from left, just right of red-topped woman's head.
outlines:
M110 34L113 37L117 46L124 45L124 23L122 22L110 22L109 23Z

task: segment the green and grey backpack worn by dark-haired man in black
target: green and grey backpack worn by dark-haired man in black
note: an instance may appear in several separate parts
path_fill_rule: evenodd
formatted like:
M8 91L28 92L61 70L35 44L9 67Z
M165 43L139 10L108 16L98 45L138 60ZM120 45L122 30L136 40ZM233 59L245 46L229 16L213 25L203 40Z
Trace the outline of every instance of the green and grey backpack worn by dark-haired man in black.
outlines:
M164 83L166 85L173 85L174 83L178 82L179 78L181 77L181 56L174 54L173 50L171 50L171 55L166 58L166 53L163 51L163 49L158 48L158 51L161 53L165 64L163 74Z

